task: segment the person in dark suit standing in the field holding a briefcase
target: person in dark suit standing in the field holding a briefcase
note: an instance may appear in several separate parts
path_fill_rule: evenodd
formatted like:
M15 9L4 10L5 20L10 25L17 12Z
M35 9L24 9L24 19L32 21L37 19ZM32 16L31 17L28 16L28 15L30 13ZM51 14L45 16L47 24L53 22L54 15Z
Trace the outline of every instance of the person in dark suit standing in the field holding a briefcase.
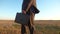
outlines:
M29 9L32 5L36 7L36 0L23 0L22 13L30 16L30 20L27 25L29 28L30 34L33 34L33 31L34 31L34 15L35 14L31 11L31 9ZM21 34L25 34L25 33L26 33L25 25L21 24Z

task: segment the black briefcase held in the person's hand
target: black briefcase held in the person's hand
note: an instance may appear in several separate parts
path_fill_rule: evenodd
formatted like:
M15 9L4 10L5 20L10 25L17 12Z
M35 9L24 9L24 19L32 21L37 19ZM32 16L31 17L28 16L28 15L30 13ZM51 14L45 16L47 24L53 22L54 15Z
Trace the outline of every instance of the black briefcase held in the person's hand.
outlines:
M28 21L30 20L30 16L23 14L23 13L17 13L15 17L15 22L23 25L27 25Z

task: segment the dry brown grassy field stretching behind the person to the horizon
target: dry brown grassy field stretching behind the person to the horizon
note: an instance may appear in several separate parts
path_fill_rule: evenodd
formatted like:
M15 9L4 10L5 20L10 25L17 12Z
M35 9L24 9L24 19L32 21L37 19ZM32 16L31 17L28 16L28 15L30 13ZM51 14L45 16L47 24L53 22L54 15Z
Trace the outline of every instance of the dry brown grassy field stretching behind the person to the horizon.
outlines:
M34 34L60 34L60 20L35 20ZM26 27L29 34L28 27ZM21 25L13 20L0 20L0 34L21 34Z

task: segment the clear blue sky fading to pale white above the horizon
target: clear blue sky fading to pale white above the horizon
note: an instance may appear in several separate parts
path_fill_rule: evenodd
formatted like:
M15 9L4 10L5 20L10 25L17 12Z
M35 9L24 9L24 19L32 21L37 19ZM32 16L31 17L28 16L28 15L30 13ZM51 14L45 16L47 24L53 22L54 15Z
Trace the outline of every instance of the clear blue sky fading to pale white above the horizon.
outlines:
M0 0L0 20L14 20L23 0ZM40 13L35 20L60 20L60 0L36 0Z

